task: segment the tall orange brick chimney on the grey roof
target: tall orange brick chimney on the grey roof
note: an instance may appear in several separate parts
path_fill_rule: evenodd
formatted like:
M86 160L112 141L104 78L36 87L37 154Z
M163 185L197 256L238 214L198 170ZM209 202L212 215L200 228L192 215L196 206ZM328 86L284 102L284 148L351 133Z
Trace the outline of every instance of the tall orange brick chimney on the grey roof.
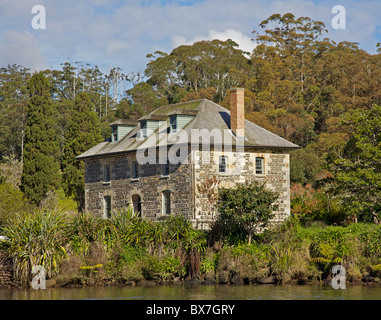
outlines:
M230 89L230 129L237 138L245 137L244 88Z

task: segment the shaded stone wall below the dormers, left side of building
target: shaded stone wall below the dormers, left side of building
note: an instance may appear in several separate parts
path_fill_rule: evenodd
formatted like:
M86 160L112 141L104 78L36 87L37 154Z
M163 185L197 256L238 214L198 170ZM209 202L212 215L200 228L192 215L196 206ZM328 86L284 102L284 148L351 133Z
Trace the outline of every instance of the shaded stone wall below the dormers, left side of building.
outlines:
M170 164L169 176L162 175L161 164L139 165L139 178L132 178L133 153L86 160L86 209L104 215L104 197L111 197L112 209L126 208L132 196L141 198L142 216L159 219L163 213L163 191L171 191L171 213L193 218L194 195L190 164ZM110 166L111 181L104 181L104 168Z

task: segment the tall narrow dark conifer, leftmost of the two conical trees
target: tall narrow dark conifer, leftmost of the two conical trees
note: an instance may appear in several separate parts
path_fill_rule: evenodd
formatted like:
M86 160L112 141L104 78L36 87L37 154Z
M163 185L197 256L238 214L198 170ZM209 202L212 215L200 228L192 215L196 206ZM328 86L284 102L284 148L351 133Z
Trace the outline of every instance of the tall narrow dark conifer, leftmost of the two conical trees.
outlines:
M36 205L60 184L59 164L56 159L58 144L50 89L49 80L42 72L35 73L28 81L30 102L26 109L21 189Z

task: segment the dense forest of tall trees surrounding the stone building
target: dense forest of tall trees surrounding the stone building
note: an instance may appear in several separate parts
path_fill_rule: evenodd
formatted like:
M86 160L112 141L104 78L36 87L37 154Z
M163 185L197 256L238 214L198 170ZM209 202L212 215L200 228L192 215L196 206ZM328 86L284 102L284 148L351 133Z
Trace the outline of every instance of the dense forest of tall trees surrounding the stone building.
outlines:
M322 22L291 13L262 21L253 41L253 52L212 40L149 53L142 74L70 62L35 74L0 68L0 220L61 193L81 210L74 158L108 138L115 119L199 98L229 108L239 86L247 119L302 147L291 154L293 215L378 223L381 54L335 43Z

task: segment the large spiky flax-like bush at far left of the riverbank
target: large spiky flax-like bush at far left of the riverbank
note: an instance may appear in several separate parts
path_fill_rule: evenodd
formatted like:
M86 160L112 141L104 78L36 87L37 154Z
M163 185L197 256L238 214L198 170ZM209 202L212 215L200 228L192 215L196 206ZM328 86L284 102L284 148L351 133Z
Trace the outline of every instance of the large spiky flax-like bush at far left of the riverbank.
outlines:
M18 214L2 229L2 245L13 260L14 275L20 281L30 280L34 265L45 267L48 277L56 275L66 256L61 212L38 210Z

